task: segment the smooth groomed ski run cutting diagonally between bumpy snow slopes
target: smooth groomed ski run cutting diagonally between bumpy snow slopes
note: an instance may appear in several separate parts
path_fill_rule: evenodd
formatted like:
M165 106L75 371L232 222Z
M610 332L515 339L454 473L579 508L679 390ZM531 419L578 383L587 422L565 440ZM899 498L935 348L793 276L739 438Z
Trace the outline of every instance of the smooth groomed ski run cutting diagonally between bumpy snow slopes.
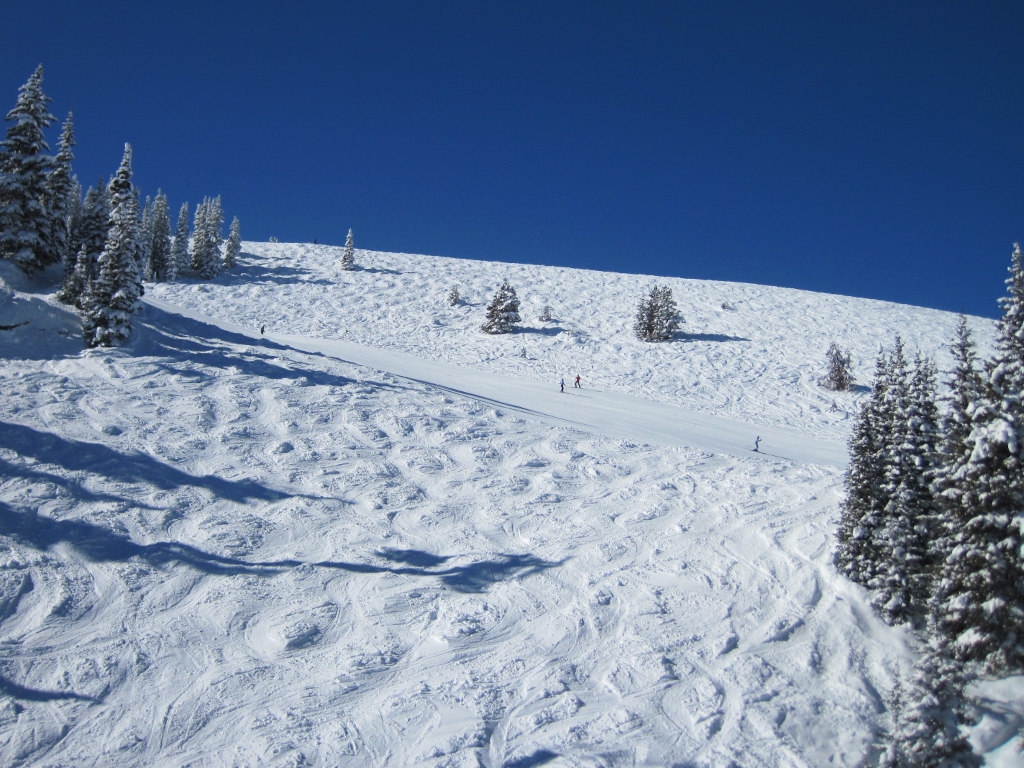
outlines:
M458 396L481 400L494 408L514 410L529 418L569 425L607 437L685 446L739 458L762 457L839 468L845 467L849 460L845 443L838 440L822 440L778 427L699 414L621 391L591 390L586 386L574 389L569 386L565 392L560 392L556 382L548 384L532 379L496 376L340 339L273 332L261 337L248 328L170 302L148 296L143 301L164 311L249 337L255 345L265 339L298 351L323 354L443 389ZM761 438L759 452L754 451L756 437Z

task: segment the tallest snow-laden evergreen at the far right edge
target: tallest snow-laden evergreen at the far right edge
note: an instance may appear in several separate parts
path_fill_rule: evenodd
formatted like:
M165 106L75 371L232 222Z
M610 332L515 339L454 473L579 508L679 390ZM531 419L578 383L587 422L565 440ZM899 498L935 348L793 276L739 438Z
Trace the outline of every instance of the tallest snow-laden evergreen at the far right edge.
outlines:
M970 453L947 469L959 525L943 565L937 626L953 656L1024 672L1024 266L1015 245L996 354L971 416Z

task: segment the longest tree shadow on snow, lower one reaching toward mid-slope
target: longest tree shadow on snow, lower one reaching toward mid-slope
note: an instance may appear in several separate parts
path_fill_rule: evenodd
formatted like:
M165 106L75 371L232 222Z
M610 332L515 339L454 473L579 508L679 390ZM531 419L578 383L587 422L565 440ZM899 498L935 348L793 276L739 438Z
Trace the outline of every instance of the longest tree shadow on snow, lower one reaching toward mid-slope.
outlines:
M179 564L212 575L273 575L287 568L312 565L352 573L393 573L438 579L450 589L470 593L485 592L498 582L524 579L564 562L543 560L534 555L501 554L489 560L435 569L435 566L443 564L449 558L419 550L385 550L380 553L385 560L391 562L418 563L399 567L341 560L252 561L216 555L180 542L136 544L125 534L95 523L85 520L56 520L40 515L35 510L15 510L4 502L0 502L0 536L10 537L39 550L48 550L60 543L68 544L84 557L96 562L125 562L138 558L158 567Z

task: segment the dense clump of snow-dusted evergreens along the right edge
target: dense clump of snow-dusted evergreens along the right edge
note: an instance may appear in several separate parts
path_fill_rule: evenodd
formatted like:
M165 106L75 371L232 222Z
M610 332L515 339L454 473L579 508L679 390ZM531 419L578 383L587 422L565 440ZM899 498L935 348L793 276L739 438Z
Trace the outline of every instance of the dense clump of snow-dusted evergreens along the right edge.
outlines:
M1024 673L1024 265L1011 257L995 355L980 365L965 317L946 412L935 369L880 352L854 425L836 564L926 651L883 764L974 766L959 735L965 680Z

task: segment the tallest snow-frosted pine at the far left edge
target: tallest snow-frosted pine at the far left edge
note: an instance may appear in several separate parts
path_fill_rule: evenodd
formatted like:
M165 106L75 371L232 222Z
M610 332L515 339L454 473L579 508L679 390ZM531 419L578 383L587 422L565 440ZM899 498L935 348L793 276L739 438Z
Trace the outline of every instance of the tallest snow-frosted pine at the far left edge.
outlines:
M19 89L17 102L7 114L12 125L0 144L0 256L29 273L54 263L48 247L51 216L46 205L53 158L47 154L49 145L43 135L53 116L42 85L40 65Z

